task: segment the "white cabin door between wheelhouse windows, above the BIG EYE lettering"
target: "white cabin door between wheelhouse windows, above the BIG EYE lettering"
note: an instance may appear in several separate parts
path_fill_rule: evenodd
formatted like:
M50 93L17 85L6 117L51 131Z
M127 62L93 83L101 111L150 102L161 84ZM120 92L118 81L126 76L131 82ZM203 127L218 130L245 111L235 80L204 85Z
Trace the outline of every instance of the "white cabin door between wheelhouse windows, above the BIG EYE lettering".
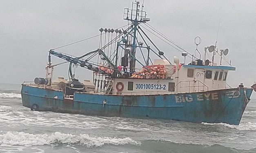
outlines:
M205 70L201 68L196 68L194 76L194 92L204 91Z

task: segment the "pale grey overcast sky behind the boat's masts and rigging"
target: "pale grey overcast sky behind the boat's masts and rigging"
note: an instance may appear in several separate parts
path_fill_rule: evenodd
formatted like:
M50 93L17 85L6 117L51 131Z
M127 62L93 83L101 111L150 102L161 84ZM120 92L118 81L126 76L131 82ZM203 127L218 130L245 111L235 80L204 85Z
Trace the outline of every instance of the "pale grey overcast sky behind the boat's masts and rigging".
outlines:
M127 24L122 18L129 3L131 0L0 0L0 82L22 83L44 77L49 49L98 35L101 27L115 29ZM196 49L196 36L202 39L198 46L202 55L204 47L216 40L219 49L229 48L226 58L236 67L228 75L229 85L236 87L243 82L251 86L256 81L255 0L144 3L149 24L190 53ZM98 44L96 37L56 51L79 56L95 50ZM183 61L174 48L166 44L158 47L171 61L173 56ZM57 58L52 60L60 62ZM80 72L79 79L91 79L88 72ZM67 77L67 65L56 67L54 77L58 76Z

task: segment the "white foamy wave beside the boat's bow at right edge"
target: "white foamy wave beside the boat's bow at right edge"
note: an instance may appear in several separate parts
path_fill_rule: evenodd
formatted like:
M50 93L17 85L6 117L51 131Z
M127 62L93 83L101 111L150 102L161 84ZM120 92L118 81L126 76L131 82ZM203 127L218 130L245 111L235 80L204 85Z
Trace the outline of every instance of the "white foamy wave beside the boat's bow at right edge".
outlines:
M226 123L205 123L205 122L202 122L202 124L203 125L222 125L222 126L229 127L232 129L237 129L240 131L256 131L256 123L254 122L243 122L243 123L240 123L240 125L229 125Z

